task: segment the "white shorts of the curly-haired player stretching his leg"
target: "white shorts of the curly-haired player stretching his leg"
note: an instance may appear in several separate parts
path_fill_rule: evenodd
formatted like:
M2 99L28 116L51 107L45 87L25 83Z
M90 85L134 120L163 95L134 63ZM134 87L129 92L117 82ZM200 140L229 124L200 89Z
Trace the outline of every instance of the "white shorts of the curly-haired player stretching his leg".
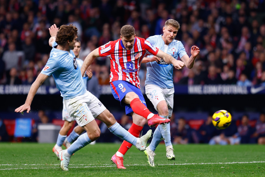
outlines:
M89 91L72 99L64 99L64 104L70 117L75 119L80 127L94 120L106 109L99 99Z

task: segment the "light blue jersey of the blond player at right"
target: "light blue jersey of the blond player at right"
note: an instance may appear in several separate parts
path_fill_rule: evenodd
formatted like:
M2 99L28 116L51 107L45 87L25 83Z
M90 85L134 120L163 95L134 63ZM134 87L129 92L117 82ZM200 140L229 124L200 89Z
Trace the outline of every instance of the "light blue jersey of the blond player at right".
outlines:
M178 60L178 56L181 58L183 55L187 55L183 44L178 40L173 40L169 45L165 45L162 35L150 36L146 40L163 52L173 56L176 60ZM153 55L148 57L153 57ZM172 64L165 63L164 60L147 63L145 85L154 84L168 89L174 87L173 68Z

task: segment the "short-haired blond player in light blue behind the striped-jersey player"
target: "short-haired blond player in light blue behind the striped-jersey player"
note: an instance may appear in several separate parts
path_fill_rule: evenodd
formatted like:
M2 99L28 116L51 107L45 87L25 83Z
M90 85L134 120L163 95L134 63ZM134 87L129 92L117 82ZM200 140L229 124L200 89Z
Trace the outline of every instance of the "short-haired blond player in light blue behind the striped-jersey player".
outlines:
M176 60L178 60L179 56L185 63L185 66L191 69L200 50L198 47L192 46L191 57L188 57L183 44L175 40L179 28L180 25L177 21L169 19L165 22L165 26L163 27L163 35L151 36L148 37L147 40L155 47L173 56ZM170 119L173 111L174 96L173 65L166 63L163 59L156 56L148 57L156 59L157 61L147 63L145 94L153 103L160 117ZM145 58L145 62L150 60L150 58ZM150 166L155 166L155 148L162 139L165 141L168 160L175 160L170 140L170 123L164 125L160 124L155 129L151 144L144 151Z

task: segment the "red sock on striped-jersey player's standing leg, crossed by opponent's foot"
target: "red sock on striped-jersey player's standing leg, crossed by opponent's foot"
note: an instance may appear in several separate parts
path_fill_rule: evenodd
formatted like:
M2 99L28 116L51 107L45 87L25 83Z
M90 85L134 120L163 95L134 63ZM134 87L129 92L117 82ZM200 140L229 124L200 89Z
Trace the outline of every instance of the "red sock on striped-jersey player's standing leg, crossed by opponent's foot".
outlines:
M135 137L139 137L140 132L143 130L143 127L136 125L134 123L132 123L132 126L129 128L128 132L130 132L133 136ZM132 144L127 142L127 141L123 141L122 145L119 148L119 152L122 153L123 155L125 155L125 153L127 152L127 150L129 150L132 147Z

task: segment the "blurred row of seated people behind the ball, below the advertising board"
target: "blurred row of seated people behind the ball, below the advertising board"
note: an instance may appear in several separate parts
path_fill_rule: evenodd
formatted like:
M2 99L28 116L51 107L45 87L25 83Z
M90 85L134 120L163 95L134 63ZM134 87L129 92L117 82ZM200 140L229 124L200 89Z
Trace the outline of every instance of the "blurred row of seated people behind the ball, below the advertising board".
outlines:
M244 114L230 126L218 130L212 124L209 115L203 124L194 129L189 126L185 118L180 118L177 123L170 122L171 141L173 144L208 143L210 145L236 145L247 143L265 144L265 114L261 113L254 124L250 123L249 116ZM173 126L172 126L173 124Z

